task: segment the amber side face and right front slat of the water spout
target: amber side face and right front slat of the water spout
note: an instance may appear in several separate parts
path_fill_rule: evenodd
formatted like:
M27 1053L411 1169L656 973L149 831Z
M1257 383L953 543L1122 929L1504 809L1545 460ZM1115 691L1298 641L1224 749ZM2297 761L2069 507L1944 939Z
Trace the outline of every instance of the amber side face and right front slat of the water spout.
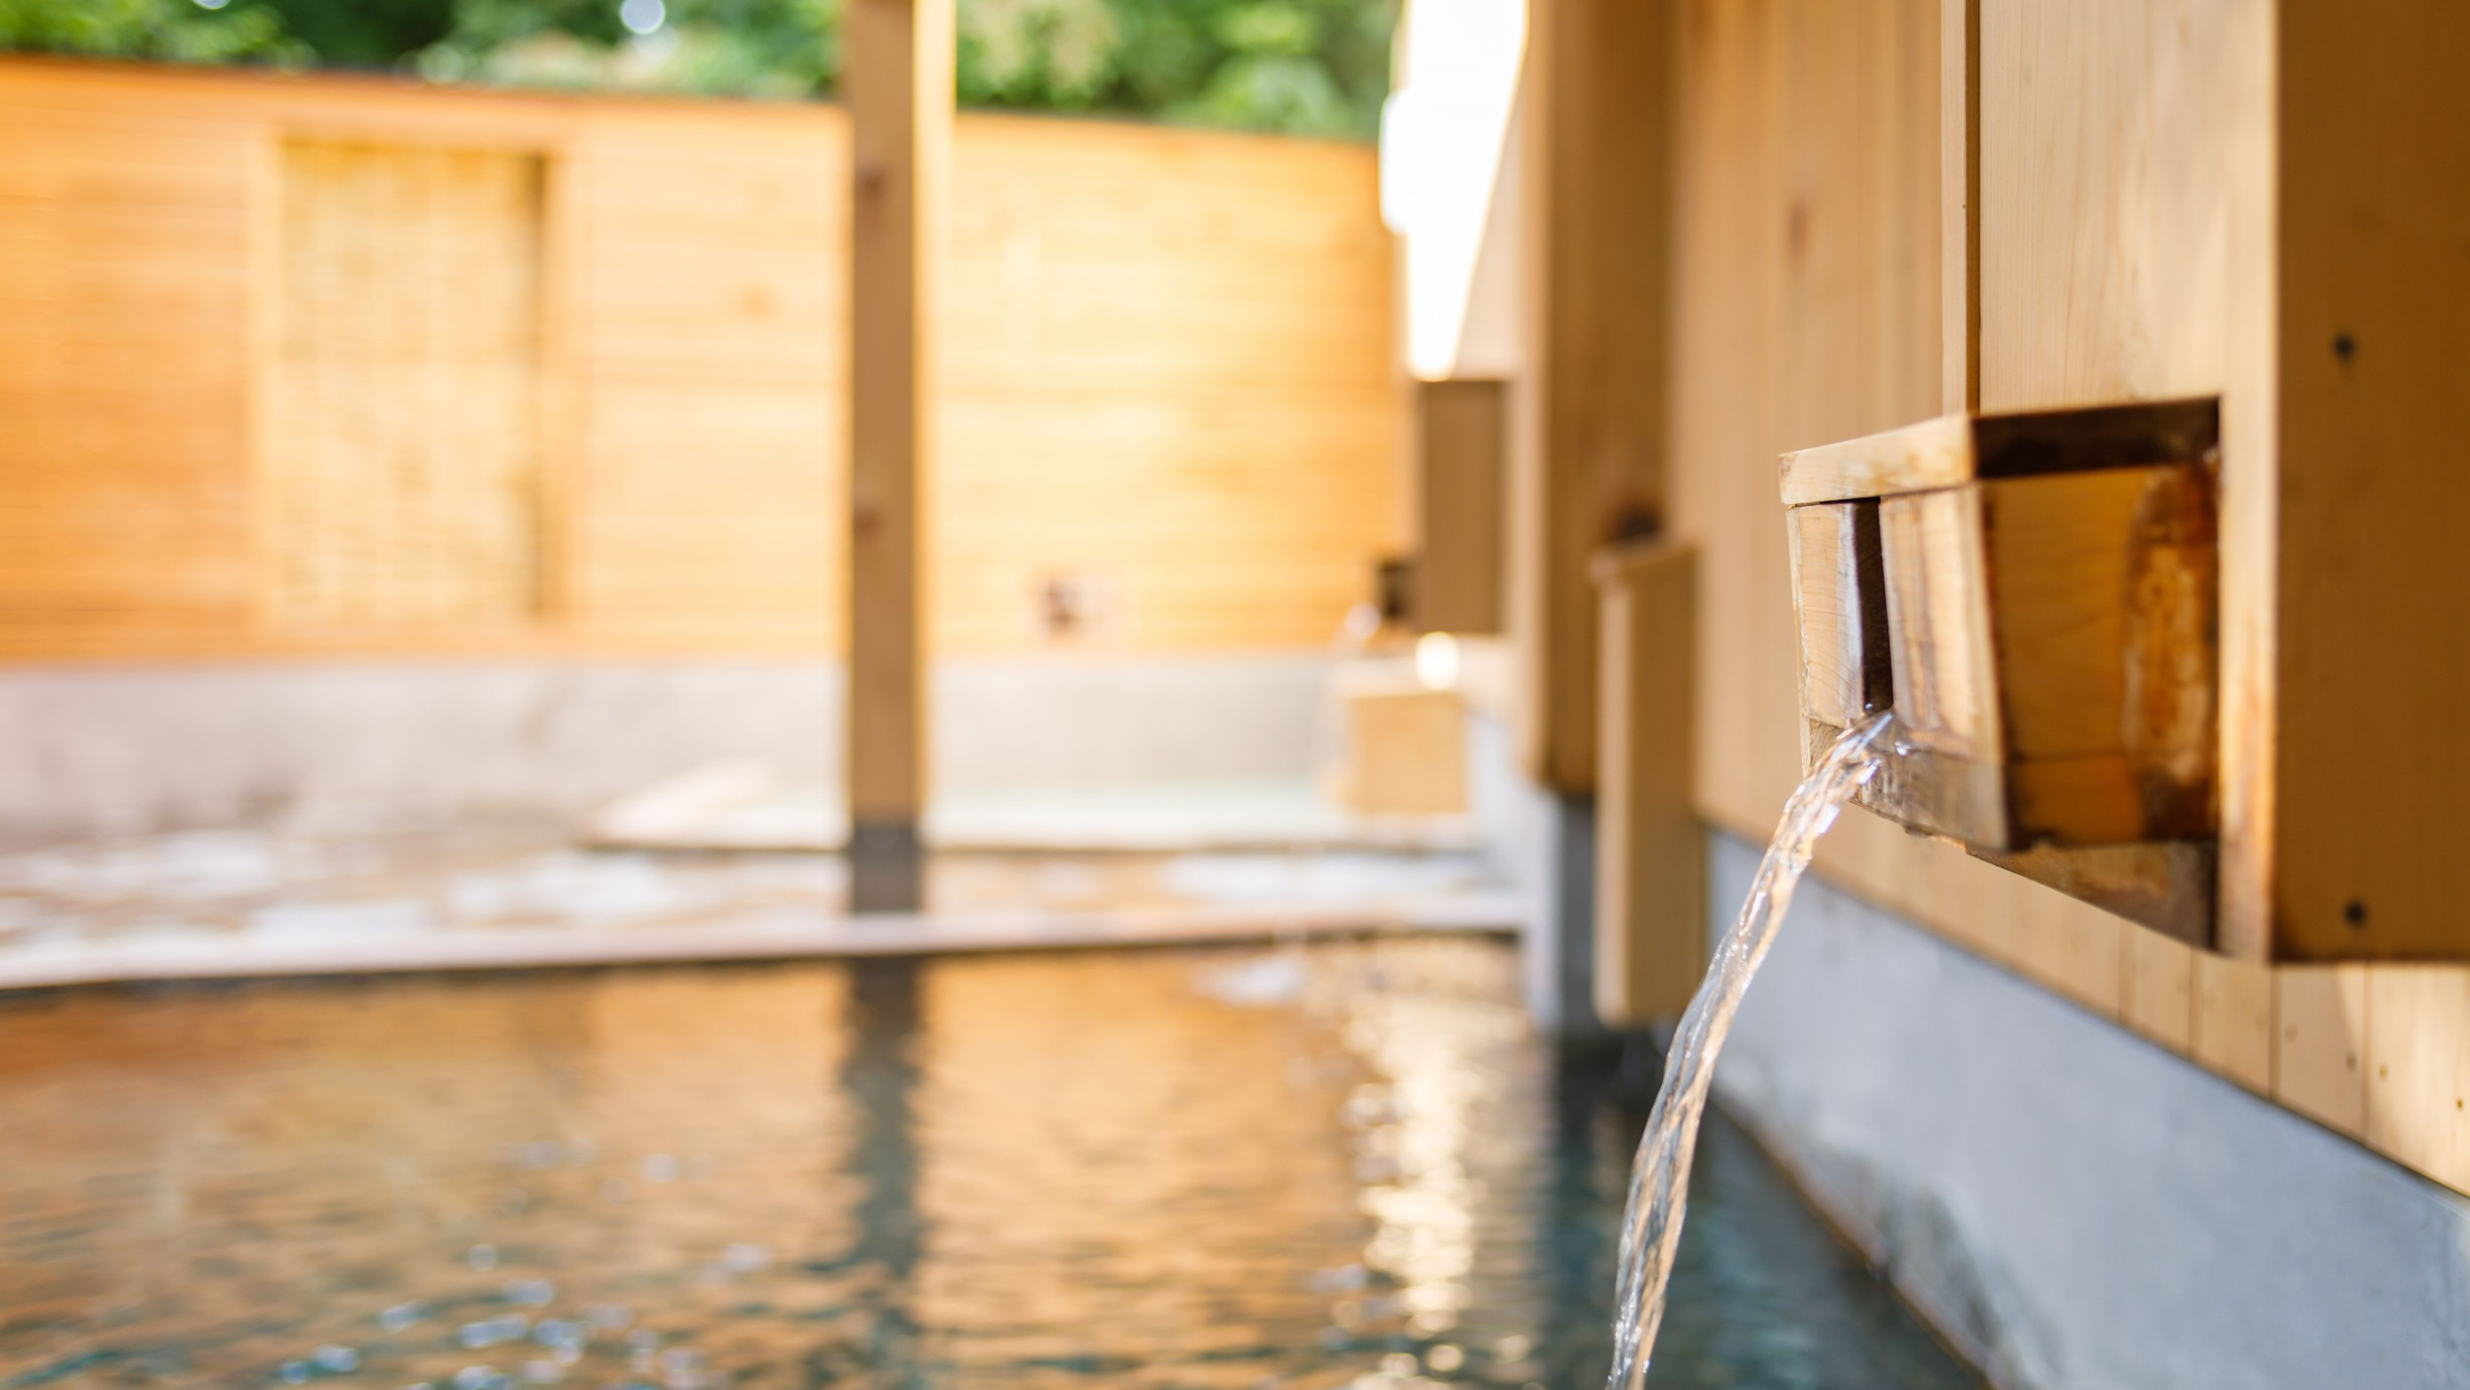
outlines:
M2211 837L2201 469L1894 494L1880 536L1894 709L1919 755L1865 805L1981 849Z

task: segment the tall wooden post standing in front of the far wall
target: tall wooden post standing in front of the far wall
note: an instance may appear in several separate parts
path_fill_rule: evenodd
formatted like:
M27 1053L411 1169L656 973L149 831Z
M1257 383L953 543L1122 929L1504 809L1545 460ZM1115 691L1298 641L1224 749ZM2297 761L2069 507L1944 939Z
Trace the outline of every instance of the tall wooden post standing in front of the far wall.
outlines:
M953 0L850 0L850 906L924 901L919 499L934 462L934 311Z

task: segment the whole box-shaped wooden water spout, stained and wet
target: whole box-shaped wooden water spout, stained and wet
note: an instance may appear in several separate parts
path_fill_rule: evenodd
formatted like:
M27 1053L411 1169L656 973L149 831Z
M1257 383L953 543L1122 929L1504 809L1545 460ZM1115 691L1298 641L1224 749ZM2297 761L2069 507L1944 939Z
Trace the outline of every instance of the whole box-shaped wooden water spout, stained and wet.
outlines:
M1862 805L2206 941L2216 444L2206 397L1786 454L1806 748L1892 706Z

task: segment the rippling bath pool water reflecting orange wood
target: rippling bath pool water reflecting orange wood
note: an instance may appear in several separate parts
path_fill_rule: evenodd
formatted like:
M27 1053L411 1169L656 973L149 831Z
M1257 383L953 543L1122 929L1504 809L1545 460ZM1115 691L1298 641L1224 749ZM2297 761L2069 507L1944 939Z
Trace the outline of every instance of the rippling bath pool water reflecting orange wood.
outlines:
M1489 938L0 1002L0 1388L1596 1390L1638 1059ZM1731 1128L1650 1385L1976 1385Z

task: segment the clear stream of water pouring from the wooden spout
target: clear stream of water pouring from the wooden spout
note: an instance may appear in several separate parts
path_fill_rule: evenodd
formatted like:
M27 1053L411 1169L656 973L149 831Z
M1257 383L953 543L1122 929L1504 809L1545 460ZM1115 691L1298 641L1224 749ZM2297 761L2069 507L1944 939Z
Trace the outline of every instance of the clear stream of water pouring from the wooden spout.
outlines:
M1630 1205L1620 1215L1620 1281L1613 1291L1613 1375L1606 1390L1638 1390L1655 1350L1655 1331L1665 1321L1665 1286L1672 1281L1672 1254L1680 1249L1682 1217L1689 1207L1689 1160L1697 1155L1699 1113L1707 1111L1707 1086L1714 1081L1714 1057L1731 1032L1749 978L1776 943L1783 911L1793 906L1801 872L1811 867L1818 837L1835 825L1853 793L1885 763L1894 728L1892 714L1875 714L1845 731L1783 802L1776 839L1749 884L1749 901L1731 931L1714 948L1707 983L1689 1000L1672 1049L1665 1057L1665 1084L1647 1113L1647 1133L1638 1141L1630 1168Z

